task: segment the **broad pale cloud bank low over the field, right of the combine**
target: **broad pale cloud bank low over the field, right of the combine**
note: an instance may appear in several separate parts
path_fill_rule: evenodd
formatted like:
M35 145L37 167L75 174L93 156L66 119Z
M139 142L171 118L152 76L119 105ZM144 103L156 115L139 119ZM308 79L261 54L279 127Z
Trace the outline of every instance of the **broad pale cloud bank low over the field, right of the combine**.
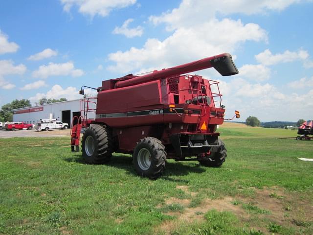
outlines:
M313 103L310 100L313 99L313 78L300 80L311 89L289 93L281 86L253 83L239 77L228 82L221 81L220 90L226 106L226 118L232 117L234 110L239 110L242 117L239 121L244 121L249 115L261 121L312 119Z

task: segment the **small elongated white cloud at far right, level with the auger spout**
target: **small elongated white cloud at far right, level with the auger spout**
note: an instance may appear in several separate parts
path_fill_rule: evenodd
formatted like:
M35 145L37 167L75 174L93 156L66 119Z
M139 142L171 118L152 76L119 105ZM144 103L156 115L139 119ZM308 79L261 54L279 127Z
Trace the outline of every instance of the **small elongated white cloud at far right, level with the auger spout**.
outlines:
M255 59L263 65L275 65L278 63L292 62L296 60L305 60L309 57L306 50L298 50L297 52L286 50L284 53L272 54L269 49L255 55Z

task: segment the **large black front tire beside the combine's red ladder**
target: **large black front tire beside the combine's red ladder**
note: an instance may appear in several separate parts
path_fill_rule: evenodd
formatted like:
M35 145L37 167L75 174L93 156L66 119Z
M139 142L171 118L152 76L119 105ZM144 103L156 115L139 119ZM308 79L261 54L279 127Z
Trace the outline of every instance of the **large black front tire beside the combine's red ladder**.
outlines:
M112 157L112 137L109 128L90 125L82 139L82 152L88 164L103 164Z

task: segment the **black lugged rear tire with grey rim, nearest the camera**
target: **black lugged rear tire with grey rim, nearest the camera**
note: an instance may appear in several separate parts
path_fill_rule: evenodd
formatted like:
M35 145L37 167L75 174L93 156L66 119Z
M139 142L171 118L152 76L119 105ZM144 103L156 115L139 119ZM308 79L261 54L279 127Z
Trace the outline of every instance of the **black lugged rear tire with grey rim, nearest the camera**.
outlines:
M165 147L161 141L153 137L145 137L134 149L135 170L141 176L156 179L165 169L166 157Z

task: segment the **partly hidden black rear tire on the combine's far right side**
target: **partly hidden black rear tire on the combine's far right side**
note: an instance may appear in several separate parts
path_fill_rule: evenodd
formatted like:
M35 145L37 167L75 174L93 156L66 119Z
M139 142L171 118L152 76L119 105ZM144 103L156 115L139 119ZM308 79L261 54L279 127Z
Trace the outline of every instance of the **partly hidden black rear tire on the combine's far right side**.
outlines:
M216 152L212 151L209 156L206 156L209 158L209 160L199 160L201 165L220 167L225 162L225 158L227 157L227 150L224 142L219 140L219 145L213 148L216 149Z

